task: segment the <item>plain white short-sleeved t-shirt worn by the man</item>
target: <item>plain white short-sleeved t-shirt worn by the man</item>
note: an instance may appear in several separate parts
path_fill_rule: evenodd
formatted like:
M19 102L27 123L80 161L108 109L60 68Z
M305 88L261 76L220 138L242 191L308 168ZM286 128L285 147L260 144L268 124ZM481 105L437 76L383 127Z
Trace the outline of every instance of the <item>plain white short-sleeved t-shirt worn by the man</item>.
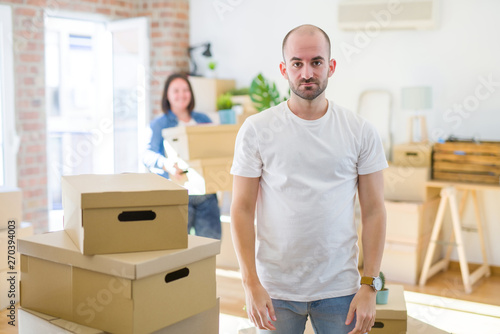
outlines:
M287 102L246 119L231 173L260 177L256 266L271 298L358 291L358 174L386 167L375 128L331 101L316 120L296 116Z

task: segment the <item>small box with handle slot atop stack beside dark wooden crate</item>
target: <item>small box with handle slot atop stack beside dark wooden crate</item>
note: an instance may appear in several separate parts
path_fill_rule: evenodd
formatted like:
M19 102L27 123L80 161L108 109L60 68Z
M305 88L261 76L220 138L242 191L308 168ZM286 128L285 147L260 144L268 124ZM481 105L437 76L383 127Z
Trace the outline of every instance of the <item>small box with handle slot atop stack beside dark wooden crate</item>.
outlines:
M431 167L432 145L428 143L399 144L392 147L392 162L396 166Z

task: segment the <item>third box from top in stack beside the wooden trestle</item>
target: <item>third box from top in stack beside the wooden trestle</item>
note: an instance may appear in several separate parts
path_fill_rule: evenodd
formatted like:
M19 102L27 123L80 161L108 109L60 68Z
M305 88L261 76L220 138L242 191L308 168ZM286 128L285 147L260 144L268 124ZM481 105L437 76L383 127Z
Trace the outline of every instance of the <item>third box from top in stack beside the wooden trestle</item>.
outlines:
M416 243L432 231L440 198L428 202L385 201L386 238Z

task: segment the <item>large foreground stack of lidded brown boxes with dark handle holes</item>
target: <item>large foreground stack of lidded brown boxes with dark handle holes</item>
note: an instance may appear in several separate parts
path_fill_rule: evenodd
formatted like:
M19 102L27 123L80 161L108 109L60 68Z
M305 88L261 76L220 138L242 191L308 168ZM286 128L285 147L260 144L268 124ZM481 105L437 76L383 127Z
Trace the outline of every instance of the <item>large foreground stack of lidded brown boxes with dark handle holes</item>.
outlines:
M154 174L66 176L62 188L65 230L19 240L23 319L68 333L218 333L220 242L188 236L186 189Z

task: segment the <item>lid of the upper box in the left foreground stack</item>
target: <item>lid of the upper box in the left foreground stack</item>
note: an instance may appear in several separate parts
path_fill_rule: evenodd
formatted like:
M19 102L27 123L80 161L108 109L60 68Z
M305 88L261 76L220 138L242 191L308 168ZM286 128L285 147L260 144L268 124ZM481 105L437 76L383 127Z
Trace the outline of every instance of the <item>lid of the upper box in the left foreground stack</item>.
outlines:
M152 173L63 176L64 196L81 209L127 206L182 205L189 201L187 190Z

